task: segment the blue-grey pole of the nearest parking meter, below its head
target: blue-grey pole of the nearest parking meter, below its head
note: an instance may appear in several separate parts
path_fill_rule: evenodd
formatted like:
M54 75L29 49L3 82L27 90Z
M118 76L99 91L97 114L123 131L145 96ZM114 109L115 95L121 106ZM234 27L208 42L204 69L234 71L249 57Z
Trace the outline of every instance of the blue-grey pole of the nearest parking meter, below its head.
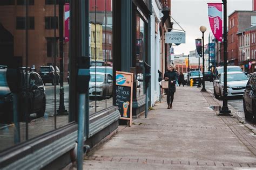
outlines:
M84 161L84 120L85 94L79 94L78 105L78 137L77 137L77 169L83 169Z

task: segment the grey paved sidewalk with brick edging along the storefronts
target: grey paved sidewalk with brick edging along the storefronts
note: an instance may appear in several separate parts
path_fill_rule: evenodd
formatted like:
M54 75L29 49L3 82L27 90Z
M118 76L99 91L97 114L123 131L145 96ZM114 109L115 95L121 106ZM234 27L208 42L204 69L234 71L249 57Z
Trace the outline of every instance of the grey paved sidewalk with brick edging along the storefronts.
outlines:
M256 135L234 117L216 116L218 102L196 87L178 87L131 127L119 127L92 150L84 169L256 168Z

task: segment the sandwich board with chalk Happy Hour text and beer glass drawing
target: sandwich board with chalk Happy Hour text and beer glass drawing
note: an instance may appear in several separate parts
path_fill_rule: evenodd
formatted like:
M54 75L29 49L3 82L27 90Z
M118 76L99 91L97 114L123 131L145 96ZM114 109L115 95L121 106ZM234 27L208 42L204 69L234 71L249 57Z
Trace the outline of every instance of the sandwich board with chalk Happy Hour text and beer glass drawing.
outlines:
M132 84L133 73L116 72L116 106L121 114L120 119L130 121L132 125Z

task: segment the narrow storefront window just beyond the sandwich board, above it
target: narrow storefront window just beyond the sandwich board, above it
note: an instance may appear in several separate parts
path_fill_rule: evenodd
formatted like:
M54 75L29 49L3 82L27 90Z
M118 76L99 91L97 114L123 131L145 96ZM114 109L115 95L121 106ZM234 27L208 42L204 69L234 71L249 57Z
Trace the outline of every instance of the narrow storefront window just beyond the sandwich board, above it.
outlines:
M137 97L144 94L143 62L145 61L145 23L136 14L136 79Z

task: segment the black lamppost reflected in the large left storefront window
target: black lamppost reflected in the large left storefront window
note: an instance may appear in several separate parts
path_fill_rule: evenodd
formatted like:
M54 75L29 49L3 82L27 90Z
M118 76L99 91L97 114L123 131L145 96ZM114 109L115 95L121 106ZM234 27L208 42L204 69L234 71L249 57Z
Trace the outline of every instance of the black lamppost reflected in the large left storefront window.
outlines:
M64 52L63 52L63 11L64 0L59 0L59 68L60 68L60 89L59 89L59 109L58 115L68 114L64 104L64 86L63 86L63 65L64 65Z

